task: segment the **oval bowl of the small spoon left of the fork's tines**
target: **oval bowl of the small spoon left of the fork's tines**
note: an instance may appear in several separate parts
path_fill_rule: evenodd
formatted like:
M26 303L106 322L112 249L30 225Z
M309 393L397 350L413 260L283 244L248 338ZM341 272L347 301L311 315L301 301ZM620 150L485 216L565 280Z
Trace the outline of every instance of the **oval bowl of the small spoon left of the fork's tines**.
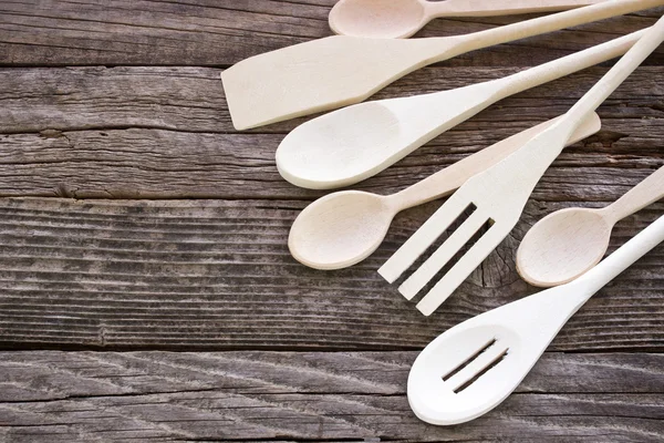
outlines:
M395 214L387 197L360 190L330 194L300 213L288 247L311 268L344 268L376 250Z

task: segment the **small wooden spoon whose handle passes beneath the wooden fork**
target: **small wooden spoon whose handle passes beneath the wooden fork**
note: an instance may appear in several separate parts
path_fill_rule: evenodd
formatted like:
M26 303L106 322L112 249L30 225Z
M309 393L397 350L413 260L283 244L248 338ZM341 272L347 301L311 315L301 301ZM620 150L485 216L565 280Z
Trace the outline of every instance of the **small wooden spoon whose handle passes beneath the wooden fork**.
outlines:
M554 122L512 135L393 195L343 190L321 197L300 213L288 247L298 261L315 269L341 269L362 261L381 245L400 210L450 194ZM600 117L593 114L568 145L596 133L600 126Z

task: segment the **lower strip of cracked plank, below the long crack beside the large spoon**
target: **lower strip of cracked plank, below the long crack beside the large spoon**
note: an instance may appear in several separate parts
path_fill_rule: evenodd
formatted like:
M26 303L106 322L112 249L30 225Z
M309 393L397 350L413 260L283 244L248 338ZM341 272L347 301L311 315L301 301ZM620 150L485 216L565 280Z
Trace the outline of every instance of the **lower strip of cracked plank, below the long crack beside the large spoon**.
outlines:
M535 123L467 122L354 188L397 192ZM608 117L603 125L601 133L553 163L537 188L537 199L605 202L664 165L664 119ZM0 196L313 199L322 195L281 178L274 165L281 140L280 134L143 128L0 136Z

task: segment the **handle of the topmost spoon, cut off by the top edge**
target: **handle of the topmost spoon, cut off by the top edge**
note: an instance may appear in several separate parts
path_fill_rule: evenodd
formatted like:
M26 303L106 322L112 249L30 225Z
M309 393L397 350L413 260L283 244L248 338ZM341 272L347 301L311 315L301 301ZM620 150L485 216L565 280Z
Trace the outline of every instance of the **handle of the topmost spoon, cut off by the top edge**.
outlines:
M606 0L445 0L426 1L430 17L491 17L566 11Z

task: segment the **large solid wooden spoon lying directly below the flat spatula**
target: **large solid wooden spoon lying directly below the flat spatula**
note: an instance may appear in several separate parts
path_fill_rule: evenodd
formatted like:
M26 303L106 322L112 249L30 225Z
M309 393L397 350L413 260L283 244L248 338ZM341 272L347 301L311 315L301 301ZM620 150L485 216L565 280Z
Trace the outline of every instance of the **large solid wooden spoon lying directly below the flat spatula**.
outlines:
M501 99L624 54L644 32L502 79L331 112L298 126L283 138L277 150L277 168L283 178L307 188L352 185Z

